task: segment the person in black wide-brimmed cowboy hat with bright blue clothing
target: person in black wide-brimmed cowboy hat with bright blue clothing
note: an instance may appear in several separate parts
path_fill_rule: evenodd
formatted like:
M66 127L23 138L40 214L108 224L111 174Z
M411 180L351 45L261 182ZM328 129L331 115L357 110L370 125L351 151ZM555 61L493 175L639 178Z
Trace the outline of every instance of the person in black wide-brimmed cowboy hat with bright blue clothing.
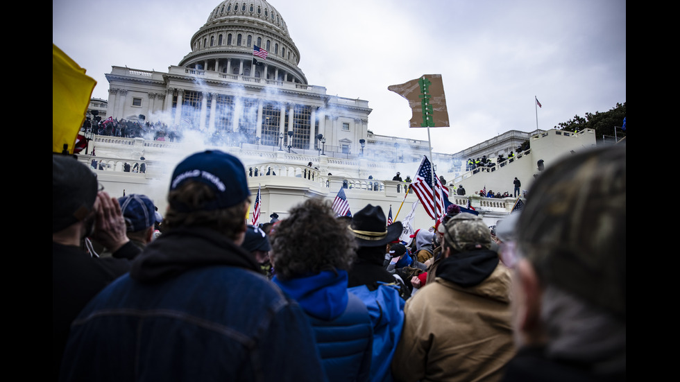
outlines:
M357 243L357 259L348 272L348 287L368 306L373 324L371 381L392 381L390 363L404 320L406 286L383 266L387 243L401 236L400 221L387 225L382 207L366 205L348 227Z

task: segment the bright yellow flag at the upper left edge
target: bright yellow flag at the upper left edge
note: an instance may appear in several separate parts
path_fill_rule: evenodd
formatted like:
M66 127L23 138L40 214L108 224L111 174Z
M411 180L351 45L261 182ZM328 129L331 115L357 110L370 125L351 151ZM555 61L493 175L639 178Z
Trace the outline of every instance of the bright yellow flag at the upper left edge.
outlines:
M69 154L73 154L94 85L96 81L85 75L85 69L52 44L53 153L61 153L66 144Z

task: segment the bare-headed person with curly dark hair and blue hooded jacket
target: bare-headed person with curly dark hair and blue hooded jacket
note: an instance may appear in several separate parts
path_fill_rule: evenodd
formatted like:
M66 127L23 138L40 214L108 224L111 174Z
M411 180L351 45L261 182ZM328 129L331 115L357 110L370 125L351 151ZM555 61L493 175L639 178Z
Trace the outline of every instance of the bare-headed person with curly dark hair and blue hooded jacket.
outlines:
M357 256L352 234L321 198L307 199L289 213L272 235L272 281L307 313L328 380L368 381L371 317L347 290L347 271Z

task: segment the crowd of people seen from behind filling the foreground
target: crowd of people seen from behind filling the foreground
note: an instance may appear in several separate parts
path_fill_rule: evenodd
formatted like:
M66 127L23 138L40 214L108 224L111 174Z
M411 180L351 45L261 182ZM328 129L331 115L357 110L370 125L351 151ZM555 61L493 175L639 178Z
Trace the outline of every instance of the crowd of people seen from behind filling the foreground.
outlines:
M625 155L547 168L493 231L451 205L402 241L323 198L248 225L219 150L176 166L164 216L53 154L53 378L625 381Z

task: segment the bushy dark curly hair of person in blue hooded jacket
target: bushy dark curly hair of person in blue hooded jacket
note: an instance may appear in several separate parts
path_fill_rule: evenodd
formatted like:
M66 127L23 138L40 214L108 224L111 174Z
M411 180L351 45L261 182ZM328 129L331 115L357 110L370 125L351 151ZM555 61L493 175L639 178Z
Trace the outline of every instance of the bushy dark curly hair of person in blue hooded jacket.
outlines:
M312 198L276 225L271 250L276 275L285 280L322 270L349 270L357 244L347 226L334 218L330 203Z

